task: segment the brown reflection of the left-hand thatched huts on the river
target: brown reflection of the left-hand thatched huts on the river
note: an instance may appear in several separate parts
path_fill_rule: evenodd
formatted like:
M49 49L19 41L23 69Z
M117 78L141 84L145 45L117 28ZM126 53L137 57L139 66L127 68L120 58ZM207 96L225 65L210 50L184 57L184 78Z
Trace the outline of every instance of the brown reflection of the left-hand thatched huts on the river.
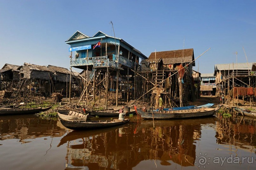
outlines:
M30 139L51 136L60 137L65 134L61 124L56 121L39 119L34 115L1 116L0 140L19 139L21 143Z

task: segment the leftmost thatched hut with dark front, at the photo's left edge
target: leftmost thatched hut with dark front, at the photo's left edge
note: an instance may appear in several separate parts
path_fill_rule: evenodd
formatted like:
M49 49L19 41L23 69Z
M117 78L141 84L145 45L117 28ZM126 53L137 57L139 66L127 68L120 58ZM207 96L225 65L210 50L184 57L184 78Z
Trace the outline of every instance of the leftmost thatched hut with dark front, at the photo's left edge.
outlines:
M0 90L11 90L13 83L19 81L19 66L5 64L0 70Z

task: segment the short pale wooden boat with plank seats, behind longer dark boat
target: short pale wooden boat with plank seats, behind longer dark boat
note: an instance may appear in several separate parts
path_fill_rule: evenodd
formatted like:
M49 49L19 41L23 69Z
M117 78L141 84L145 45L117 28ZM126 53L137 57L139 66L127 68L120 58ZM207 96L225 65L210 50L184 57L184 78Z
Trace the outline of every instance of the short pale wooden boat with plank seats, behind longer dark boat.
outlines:
M65 121L86 121L87 115L70 110L58 110L58 116Z

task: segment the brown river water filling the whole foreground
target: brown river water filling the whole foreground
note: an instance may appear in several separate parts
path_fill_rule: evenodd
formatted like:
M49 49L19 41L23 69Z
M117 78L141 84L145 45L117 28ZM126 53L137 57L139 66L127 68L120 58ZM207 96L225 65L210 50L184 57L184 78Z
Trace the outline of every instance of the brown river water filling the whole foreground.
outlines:
M0 117L0 169L256 169L256 119L153 121L72 131L34 115Z

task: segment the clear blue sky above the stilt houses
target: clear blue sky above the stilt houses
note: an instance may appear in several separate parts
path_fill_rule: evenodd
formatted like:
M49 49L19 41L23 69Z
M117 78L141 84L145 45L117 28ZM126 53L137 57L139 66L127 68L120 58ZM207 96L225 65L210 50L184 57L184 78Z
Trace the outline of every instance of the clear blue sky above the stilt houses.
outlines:
M99 30L128 42L147 57L156 51L193 48L193 67L256 63L256 1L246 0L0 0L0 67L5 63L69 68L65 41L77 30ZM82 71L79 70L78 71Z

